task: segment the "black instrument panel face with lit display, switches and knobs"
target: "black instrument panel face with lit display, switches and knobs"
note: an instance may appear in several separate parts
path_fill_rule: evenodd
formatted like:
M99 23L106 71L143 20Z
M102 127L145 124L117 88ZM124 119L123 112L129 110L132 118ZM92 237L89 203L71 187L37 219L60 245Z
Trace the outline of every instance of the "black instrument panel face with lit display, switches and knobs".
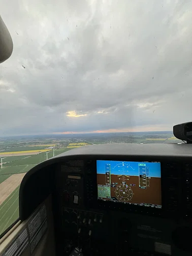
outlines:
M191 226L192 165L144 160L78 159L59 165L57 227L66 255L72 247L90 255L98 243L103 247L95 255L189 255L180 232Z

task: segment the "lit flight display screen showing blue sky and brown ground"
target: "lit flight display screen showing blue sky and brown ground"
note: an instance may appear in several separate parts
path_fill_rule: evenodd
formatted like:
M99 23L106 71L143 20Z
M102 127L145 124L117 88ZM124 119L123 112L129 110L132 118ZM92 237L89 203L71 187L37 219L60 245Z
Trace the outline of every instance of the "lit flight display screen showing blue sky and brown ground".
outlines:
M97 160L98 200L162 208L161 163Z

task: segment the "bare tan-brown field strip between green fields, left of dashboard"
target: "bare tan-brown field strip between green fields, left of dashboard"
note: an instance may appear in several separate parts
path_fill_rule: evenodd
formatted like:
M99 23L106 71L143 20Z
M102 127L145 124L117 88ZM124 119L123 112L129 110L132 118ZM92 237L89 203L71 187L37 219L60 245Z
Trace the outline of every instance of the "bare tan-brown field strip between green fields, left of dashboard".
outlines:
M0 184L0 205L20 185L25 173L13 174Z

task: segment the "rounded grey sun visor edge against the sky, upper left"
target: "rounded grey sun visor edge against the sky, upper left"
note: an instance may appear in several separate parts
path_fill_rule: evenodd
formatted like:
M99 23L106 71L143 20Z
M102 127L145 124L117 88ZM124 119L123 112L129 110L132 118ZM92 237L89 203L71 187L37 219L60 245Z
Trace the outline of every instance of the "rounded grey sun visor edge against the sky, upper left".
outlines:
M9 30L0 16L0 63L7 60L13 52L13 41Z

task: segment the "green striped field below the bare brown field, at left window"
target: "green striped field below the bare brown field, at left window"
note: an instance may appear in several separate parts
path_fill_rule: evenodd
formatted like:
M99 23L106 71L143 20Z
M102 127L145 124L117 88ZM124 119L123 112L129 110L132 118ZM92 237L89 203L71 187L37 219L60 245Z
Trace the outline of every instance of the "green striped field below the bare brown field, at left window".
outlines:
M19 186L0 205L0 234L19 217Z

